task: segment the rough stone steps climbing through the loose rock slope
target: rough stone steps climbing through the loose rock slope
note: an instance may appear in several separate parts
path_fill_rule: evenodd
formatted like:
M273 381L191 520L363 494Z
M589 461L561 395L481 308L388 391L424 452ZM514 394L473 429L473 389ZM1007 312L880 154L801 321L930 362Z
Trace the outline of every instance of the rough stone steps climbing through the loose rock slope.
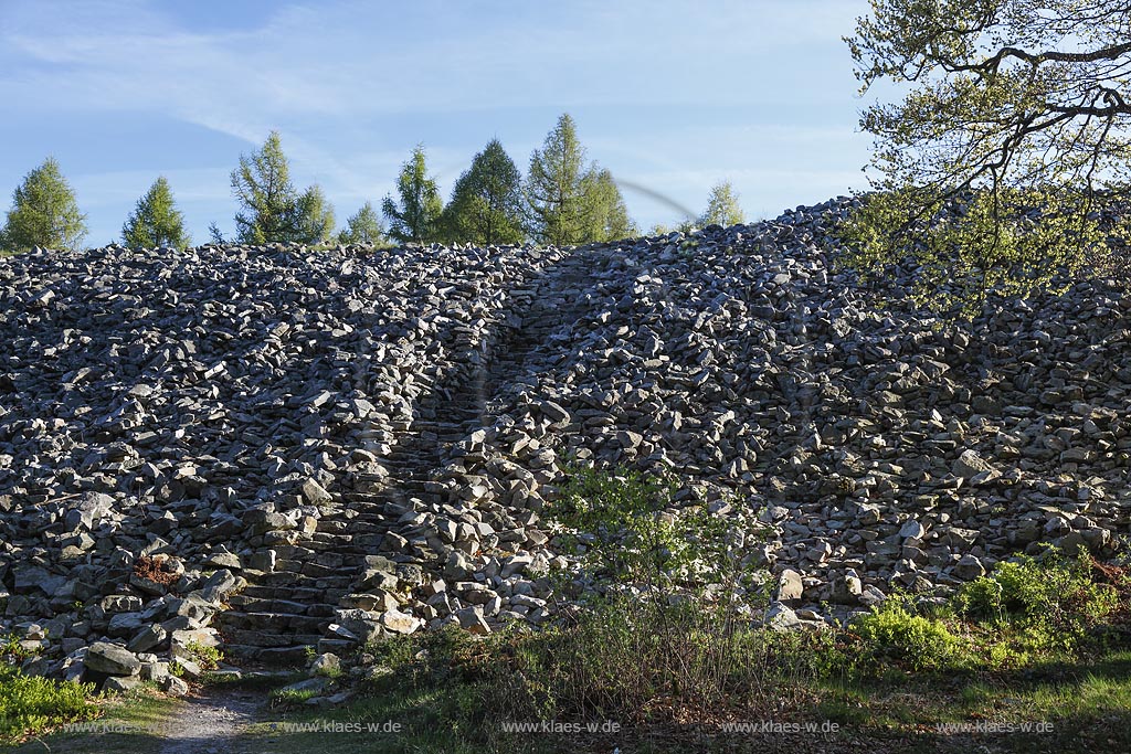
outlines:
M559 263L553 277L542 286L566 287L580 300L592 275L587 262L577 259ZM517 327L501 328L486 364L461 370L464 374L435 385L416 407L415 418L396 433L390 452L381 458L389 471L387 485L375 492L344 495L344 505L318 521L309 538L295 546L277 546L274 572L249 571L249 586L233 597L230 609L215 624L224 638L226 655L245 662L303 662L311 648L335 648L345 642L323 638L336 608L352 593L356 577L365 571L366 556L390 554L385 538L397 528L390 511L403 510L408 501L439 505L448 491L432 479L454 444L489 426L491 398L529 371L529 358L538 348L553 348L551 333L576 312L539 306L534 287L512 292L521 311L512 315ZM509 330L509 331L507 331ZM547 345L549 344L549 345ZM470 374L466 374L470 371ZM402 536L411 531L398 532ZM424 555L438 560L433 553ZM321 640L321 642L320 642Z

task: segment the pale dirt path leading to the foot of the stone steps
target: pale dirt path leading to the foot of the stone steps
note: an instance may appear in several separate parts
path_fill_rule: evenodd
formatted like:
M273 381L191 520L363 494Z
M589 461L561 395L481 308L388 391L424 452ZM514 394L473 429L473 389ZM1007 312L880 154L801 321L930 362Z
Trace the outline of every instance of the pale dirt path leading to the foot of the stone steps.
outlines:
M243 754L236 736L259 718L266 700L261 691L202 688L165 723L161 754Z

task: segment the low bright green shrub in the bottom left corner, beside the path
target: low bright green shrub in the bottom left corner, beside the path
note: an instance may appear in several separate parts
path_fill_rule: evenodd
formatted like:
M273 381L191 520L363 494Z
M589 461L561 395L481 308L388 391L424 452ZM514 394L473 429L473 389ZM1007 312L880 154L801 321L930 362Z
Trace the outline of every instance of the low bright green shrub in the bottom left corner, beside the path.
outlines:
M86 701L93 691L89 684L26 676L17 668L0 665L0 739L96 717L97 707Z

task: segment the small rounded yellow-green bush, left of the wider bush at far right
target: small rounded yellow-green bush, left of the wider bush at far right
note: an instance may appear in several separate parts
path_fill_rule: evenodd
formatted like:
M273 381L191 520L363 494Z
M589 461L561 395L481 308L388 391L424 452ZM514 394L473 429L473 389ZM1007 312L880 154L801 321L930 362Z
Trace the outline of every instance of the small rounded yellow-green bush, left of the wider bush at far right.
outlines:
M917 615L891 598L853 621L865 656L889 658L915 670L939 670L960 658L961 641L938 618Z

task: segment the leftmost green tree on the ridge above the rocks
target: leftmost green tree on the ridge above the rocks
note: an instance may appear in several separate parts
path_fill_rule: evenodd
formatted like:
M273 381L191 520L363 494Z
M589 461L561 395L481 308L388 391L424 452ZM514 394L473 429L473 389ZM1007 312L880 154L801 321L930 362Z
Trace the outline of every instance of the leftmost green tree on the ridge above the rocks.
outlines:
M0 229L0 249L77 249L86 233L86 215L79 211L75 192L59 163L48 157L12 193L11 209Z

